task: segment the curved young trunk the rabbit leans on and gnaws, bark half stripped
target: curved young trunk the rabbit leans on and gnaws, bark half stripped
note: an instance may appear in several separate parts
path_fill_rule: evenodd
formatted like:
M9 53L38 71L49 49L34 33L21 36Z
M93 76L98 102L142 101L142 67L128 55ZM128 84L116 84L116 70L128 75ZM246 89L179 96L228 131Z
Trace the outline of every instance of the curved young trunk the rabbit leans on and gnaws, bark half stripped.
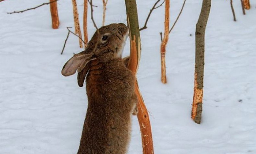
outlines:
M130 31L130 59L128 62L128 68L136 75L140 60L140 31L138 14L136 7L136 0L125 0L127 22ZM140 124L141 138L143 154L154 154L153 139L151 133L151 125L148 116L148 112L143 101L142 95L139 90L138 82L135 84L135 92L138 97L138 121Z

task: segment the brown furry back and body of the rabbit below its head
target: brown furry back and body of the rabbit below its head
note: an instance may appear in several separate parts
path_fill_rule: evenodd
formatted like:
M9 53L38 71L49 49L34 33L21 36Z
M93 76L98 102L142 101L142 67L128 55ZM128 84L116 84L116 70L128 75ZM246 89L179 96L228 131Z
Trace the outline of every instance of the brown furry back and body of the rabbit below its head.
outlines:
M78 153L124 154L130 140L134 107L132 72L121 59L108 63L94 61L86 82L88 108Z

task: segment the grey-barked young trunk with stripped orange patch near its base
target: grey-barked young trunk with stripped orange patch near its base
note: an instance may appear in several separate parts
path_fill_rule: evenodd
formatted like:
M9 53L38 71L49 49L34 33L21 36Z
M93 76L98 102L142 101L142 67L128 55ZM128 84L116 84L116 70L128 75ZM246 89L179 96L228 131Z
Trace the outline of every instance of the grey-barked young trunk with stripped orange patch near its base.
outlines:
M211 0L203 0L195 32L195 79L191 118L201 122L204 85L204 32L210 14Z

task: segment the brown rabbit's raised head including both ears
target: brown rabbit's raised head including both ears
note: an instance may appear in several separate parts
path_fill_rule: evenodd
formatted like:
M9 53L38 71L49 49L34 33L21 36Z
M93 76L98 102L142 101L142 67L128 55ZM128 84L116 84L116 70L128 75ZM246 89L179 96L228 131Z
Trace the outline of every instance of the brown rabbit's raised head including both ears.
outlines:
M61 71L62 75L73 75L77 70L78 85L83 86L81 83L79 84L79 78L84 81L89 70L87 64L95 59L98 59L99 62L108 62L115 58L121 58L127 36L128 27L125 24L110 24L100 27L92 36L85 51L74 54L65 63Z

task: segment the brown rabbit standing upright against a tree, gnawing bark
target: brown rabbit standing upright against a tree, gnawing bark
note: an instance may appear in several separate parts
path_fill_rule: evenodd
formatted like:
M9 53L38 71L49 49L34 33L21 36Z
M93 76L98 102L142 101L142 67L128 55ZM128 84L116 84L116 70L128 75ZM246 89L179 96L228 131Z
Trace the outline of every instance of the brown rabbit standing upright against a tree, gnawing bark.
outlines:
M86 50L62 69L64 76L77 70L79 86L86 77L88 108L78 154L127 152L131 115L137 114L135 78L121 59L127 36L128 28L122 23L99 28Z

